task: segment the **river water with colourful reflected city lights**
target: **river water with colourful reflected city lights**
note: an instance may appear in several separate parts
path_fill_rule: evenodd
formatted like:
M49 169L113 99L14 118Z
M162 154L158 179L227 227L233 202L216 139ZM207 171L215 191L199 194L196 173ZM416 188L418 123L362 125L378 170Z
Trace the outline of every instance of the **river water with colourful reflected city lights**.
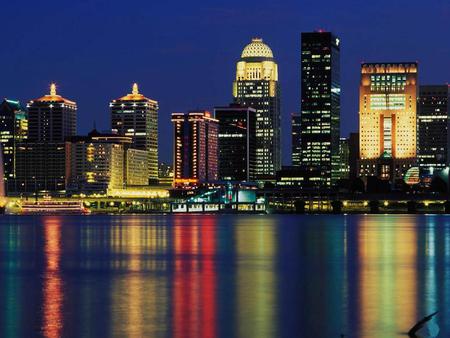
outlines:
M0 219L1 337L450 333L450 217Z

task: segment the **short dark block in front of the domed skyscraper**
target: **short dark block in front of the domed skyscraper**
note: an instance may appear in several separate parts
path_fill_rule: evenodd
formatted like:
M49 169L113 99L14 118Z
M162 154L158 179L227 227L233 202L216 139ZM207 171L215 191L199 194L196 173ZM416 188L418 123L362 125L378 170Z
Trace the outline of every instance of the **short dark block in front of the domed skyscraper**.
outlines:
M239 104L216 107L219 121L219 178L251 181L255 178L256 110Z

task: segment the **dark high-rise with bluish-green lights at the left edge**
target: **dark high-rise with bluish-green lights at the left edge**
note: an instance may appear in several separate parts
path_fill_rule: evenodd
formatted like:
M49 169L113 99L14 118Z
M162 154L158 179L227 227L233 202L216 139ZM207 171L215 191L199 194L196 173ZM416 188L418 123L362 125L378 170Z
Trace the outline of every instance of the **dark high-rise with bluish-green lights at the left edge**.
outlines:
M28 113L19 101L4 99L0 104L0 143L3 149L5 183L16 176L17 144L27 138Z

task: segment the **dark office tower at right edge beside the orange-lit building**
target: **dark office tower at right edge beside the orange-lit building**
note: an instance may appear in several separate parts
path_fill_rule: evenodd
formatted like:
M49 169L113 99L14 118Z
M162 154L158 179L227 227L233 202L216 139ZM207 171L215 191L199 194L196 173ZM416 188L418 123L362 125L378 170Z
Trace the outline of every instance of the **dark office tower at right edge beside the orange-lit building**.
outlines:
M450 86L420 86L417 107L417 162L432 174L450 161Z

